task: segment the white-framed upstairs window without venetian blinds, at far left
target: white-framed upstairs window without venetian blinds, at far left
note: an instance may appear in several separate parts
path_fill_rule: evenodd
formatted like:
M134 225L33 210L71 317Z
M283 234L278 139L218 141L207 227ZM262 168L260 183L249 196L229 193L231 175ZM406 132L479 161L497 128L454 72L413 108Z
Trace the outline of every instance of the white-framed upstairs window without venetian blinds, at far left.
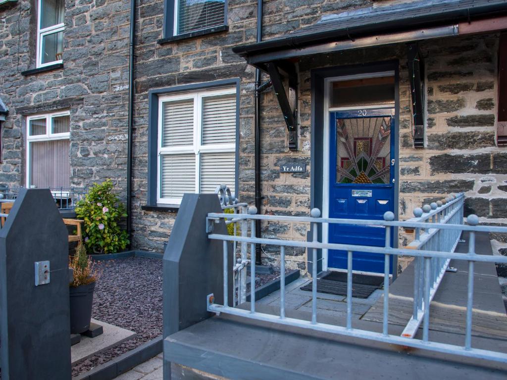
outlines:
M38 0L37 67L62 63L64 0Z

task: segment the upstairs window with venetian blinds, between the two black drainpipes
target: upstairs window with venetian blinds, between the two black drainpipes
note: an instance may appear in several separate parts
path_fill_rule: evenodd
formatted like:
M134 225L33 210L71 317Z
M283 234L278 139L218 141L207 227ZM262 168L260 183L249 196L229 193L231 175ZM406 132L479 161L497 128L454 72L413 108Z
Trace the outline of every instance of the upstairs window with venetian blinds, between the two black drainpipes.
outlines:
M225 24L225 0L175 0L177 34Z

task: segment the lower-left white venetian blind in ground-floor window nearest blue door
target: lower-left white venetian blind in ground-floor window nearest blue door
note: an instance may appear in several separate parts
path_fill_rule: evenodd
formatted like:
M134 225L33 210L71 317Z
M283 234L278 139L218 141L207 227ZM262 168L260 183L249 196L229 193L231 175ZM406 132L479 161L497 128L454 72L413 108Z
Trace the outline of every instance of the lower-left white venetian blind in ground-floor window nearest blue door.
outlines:
M161 198L182 198L195 193L195 155L161 156Z

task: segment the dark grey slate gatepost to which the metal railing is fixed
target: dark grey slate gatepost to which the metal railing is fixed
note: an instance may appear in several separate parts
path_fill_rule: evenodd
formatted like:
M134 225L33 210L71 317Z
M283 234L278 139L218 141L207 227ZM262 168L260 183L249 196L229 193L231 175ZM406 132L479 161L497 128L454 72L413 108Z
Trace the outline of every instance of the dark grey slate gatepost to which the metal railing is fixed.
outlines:
M206 310L206 296L213 293L215 303L223 305L223 242L208 239L206 216L222 213L216 194L185 194L179 207L163 259L164 339L213 314ZM213 233L227 235L223 220L214 224ZM229 243L229 306L232 306L233 247ZM164 380L171 378L171 363L164 342Z

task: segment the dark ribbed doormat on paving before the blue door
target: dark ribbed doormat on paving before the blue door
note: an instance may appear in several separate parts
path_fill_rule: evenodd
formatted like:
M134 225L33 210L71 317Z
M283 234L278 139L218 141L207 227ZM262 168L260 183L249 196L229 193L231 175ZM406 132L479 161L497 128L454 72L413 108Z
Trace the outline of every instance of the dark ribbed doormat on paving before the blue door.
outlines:
M352 297L368 298L383 283L384 278L380 276L352 274ZM312 283L300 289L312 291ZM347 296L347 273L330 272L321 279L317 279L317 292Z

